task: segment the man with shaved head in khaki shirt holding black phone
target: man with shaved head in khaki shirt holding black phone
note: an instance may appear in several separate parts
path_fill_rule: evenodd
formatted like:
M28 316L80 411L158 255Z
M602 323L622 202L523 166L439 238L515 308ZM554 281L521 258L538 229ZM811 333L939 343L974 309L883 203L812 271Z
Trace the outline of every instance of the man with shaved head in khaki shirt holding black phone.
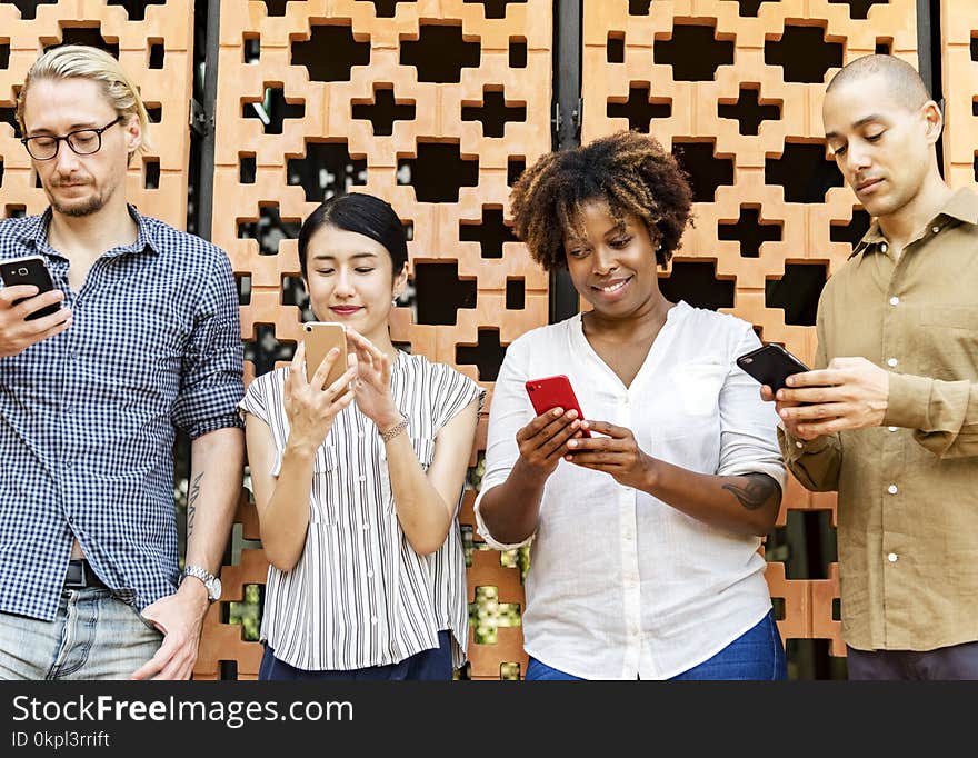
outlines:
M778 391L785 461L839 492L849 678L978 679L978 196L941 179L908 63L854 61L822 117L874 222L822 291L816 370Z

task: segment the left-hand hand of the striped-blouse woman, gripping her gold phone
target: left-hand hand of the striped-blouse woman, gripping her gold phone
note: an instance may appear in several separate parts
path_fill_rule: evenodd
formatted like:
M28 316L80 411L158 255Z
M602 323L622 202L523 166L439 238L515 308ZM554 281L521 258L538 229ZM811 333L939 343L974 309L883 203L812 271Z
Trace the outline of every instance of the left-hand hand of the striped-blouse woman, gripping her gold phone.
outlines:
M347 360L348 368L331 385L326 380L333 363ZM289 373L286 376L285 407L289 419L288 447L298 447L306 452L316 450L339 412L353 401L350 383L357 377L357 357L341 357L337 348L332 348L316 369L312 380L306 380L306 346L300 342Z

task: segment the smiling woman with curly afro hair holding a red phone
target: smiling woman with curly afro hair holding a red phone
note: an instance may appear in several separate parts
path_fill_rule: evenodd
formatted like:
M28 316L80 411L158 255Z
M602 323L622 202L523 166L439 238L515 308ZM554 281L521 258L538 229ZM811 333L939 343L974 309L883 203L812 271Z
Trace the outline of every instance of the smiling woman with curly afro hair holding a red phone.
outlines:
M509 346L490 408L476 517L496 549L531 543L526 678L785 679L758 550L778 419L735 363L760 340L658 286L686 177L622 131L543 156L511 200L533 259L590 306ZM533 411L526 382L561 373L585 418Z

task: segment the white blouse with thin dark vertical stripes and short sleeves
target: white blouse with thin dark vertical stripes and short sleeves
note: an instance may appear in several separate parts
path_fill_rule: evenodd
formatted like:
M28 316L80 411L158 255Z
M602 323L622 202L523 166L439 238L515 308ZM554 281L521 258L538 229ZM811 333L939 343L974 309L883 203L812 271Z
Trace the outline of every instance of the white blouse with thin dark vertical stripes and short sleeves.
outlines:
M240 402L275 438L278 476L289 436L282 402L289 369L255 379ZM426 469L439 430L473 399L475 381L445 363L400 353L391 371L395 403ZM462 492L456 510L461 503ZM445 545L419 556L395 512L387 452L377 427L356 402L337 416L316 453L306 547L295 568L268 569L261 640L278 659L305 670L349 670L395 664L452 636L452 662L466 661L466 565L458 522Z

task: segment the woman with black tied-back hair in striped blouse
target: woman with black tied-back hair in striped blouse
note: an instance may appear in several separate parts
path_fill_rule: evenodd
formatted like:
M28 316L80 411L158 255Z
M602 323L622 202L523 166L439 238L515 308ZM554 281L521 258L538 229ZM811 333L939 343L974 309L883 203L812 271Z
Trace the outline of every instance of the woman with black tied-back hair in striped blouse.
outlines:
M466 659L456 520L483 390L398 350L403 227L365 193L323 202L299 232L320 321L346 328L307 381L305 347L255 379L240 408L271 566L261 679L451 679ZM326 385L336 361L347 371Z

